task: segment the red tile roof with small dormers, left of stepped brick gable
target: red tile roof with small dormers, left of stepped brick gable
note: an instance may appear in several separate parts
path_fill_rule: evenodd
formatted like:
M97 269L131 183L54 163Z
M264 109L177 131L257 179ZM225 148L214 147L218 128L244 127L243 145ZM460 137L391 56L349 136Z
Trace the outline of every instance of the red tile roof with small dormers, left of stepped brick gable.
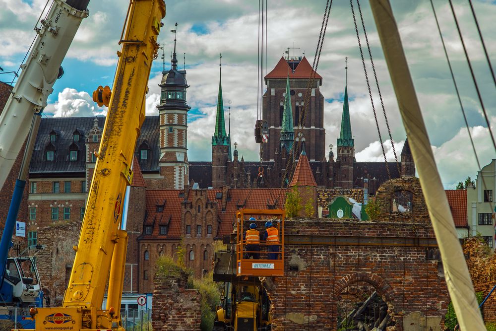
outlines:
M152 234L143 239L178 239L181 237L181 211L184 201L182 190L146 190L146 218L144 225L152 226ZM163 206L163 211L157 211ZM159 225L169 225L167 235L160 235Z

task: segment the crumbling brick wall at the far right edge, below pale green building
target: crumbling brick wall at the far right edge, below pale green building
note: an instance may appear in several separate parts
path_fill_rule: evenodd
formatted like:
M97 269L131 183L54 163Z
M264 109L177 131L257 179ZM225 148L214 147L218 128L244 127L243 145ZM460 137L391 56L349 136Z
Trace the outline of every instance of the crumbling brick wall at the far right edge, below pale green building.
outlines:
M496 256L491 252L484 239L472 237L463 246L470 278L476 292L486 297L496 285ZM496 293L493 293L483 306L484 322L496 323Z

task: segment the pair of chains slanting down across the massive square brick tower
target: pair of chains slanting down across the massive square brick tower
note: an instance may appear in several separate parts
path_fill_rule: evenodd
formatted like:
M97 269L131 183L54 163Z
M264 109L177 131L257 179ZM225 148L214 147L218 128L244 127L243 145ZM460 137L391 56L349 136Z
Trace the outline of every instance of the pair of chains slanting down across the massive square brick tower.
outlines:
M318 36L317 48L315 50L316 56L313 58L312 71L310 72L310 79L307 83L307 90L305 92L305 99L304 99L305 101L303 103L302 111L300 113L299 121L298 121L297 132L298 132L298 130L300 130L299 133L301 132L302 134L303 134L303 124L302 123L305 123L305 119L306 119L306 115L307 115L306 105L308 105L308 102L310 101L310 89L311 89L311 85L313 83L313 80L315 78L315 73L317 70L318 62L320 60L320 53L322 51L322 45L324 43L325 30L327 29L327 22L329 21L331 6L332 6L332 0L330 0L330 1L327 0L327 3L325 5L325 10L324 10L324 16L322 17L322 25L320 27L320 34ZM302 118L303 118L303 121L302 121ZM302 144L302 139L298 139L298 146L297 146L298 150L300 150L301 144ZM281 189L284 187L284 182L286 180L286 176L288 175L288 168L290 166L290 163L291 163L291 170L289 172L290 175L293 174L293 170L295 167L295 162L294 162L295 145L293 145L292 150L293 150L293 157L288 155L289 157L288 157L288 161L286 162L286 167L284 169L284 176L282 176L282 178L281 178ZM290 151L288 151L288 154Z

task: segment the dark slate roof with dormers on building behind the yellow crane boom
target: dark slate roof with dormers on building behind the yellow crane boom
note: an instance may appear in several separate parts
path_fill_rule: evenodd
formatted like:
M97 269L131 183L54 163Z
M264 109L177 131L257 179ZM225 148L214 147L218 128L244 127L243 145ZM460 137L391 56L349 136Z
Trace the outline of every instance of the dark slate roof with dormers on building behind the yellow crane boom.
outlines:
M29 167L30 175L48 177L60 176L60 173L71 173L73 176L84 176L86 155L84 135L93 128L94 119L94 117L42 118ZM97 117L97 120L98 127L103 129L105 117ZM81 134L78 142L73 141L73 133L76 130ZM50 141L52 131L57 134L56 141L53 143ZM147 140L151 148L148 151L148 159L139 161L142 172L158 171L160 157L158 139L158 116L148 116L143 123L141 136L138 137L136 144L139 146L144 140ZM55 148L55 161L47 161L47 148ZM69 148L78 150L76 161L69 161ZM139 160L138 148L136 148L135 156Z

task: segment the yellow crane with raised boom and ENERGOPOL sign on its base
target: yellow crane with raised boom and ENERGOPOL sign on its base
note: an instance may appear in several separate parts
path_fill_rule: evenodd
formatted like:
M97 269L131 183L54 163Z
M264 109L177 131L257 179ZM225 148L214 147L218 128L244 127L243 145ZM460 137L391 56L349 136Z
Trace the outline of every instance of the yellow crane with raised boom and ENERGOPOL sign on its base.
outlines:
M129 2L113 90L100 86L93 93L109 109L69 283L62 307L31 308L36 331L124 331L120 307L127 233L120 229L122 206L166 11L163 0ZM107 306L101 309L107 282Z

